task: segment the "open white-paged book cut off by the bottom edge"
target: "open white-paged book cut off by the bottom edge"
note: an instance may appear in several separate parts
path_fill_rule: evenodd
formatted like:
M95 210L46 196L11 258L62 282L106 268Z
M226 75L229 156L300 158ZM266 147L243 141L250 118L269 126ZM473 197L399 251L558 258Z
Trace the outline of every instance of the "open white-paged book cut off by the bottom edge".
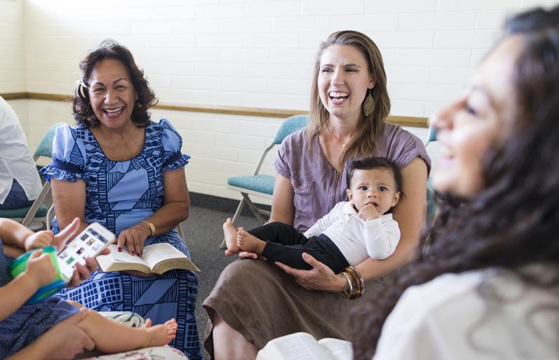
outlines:
M256 360L351 360L351 342L333 338L316 341L309 333L292 333L270 340Z

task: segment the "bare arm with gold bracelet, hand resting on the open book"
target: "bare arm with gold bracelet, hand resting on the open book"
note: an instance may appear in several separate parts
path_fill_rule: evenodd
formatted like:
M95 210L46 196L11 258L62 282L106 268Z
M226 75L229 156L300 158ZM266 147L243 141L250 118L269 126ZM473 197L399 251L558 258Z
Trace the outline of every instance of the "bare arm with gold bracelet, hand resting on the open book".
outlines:
M166 171L163 175L163 206L146 219L154 225L156 231L152 234L149 225L140 222L123 230L119 234L117 244L122 248L126 243L130 253L142 254L147 238L166 234L174 229L188 218L189 210L190 198L184 168Z

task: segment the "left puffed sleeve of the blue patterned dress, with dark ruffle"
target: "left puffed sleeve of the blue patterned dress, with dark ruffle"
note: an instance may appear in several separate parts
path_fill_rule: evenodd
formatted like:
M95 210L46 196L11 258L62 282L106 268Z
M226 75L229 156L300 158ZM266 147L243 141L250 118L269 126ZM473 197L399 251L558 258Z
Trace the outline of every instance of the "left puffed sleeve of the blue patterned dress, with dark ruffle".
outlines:
M53 139L53 161L41 168L40 173L47 181L50 178L69 182L87 180L85 159L86 149L83 141L78 138L76 129L69 125L60 126Z

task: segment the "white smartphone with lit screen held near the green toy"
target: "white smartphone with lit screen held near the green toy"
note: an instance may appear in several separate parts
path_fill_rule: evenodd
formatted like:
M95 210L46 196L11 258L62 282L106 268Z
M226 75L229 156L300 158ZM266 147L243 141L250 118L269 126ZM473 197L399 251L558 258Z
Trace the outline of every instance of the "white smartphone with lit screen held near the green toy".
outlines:
M116 236L103 225L93 222L57 255L60 274L72 279L76 264L86 265L86 258L95 258L107 246L114 243Z

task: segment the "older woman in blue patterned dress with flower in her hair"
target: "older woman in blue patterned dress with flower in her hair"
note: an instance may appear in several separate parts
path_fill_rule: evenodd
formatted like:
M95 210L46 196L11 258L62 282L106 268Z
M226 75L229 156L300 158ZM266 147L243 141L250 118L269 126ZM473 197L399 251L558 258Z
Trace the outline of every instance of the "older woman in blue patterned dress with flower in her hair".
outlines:
M53 162L41 170L53 185L54 229L79 217L81 229L99 222L114 232L119 251L142 256L144 246L165 242L190 257L174 230L189 213L182 138L168 120L150 120L156 98L127 48L103 41L80 68L73 106L78 125L57 129ZM154 324L174 317L171 345L201 359L197 292L196 275L175 269L159 276L97 271L59 295L97 311L133 311Z

